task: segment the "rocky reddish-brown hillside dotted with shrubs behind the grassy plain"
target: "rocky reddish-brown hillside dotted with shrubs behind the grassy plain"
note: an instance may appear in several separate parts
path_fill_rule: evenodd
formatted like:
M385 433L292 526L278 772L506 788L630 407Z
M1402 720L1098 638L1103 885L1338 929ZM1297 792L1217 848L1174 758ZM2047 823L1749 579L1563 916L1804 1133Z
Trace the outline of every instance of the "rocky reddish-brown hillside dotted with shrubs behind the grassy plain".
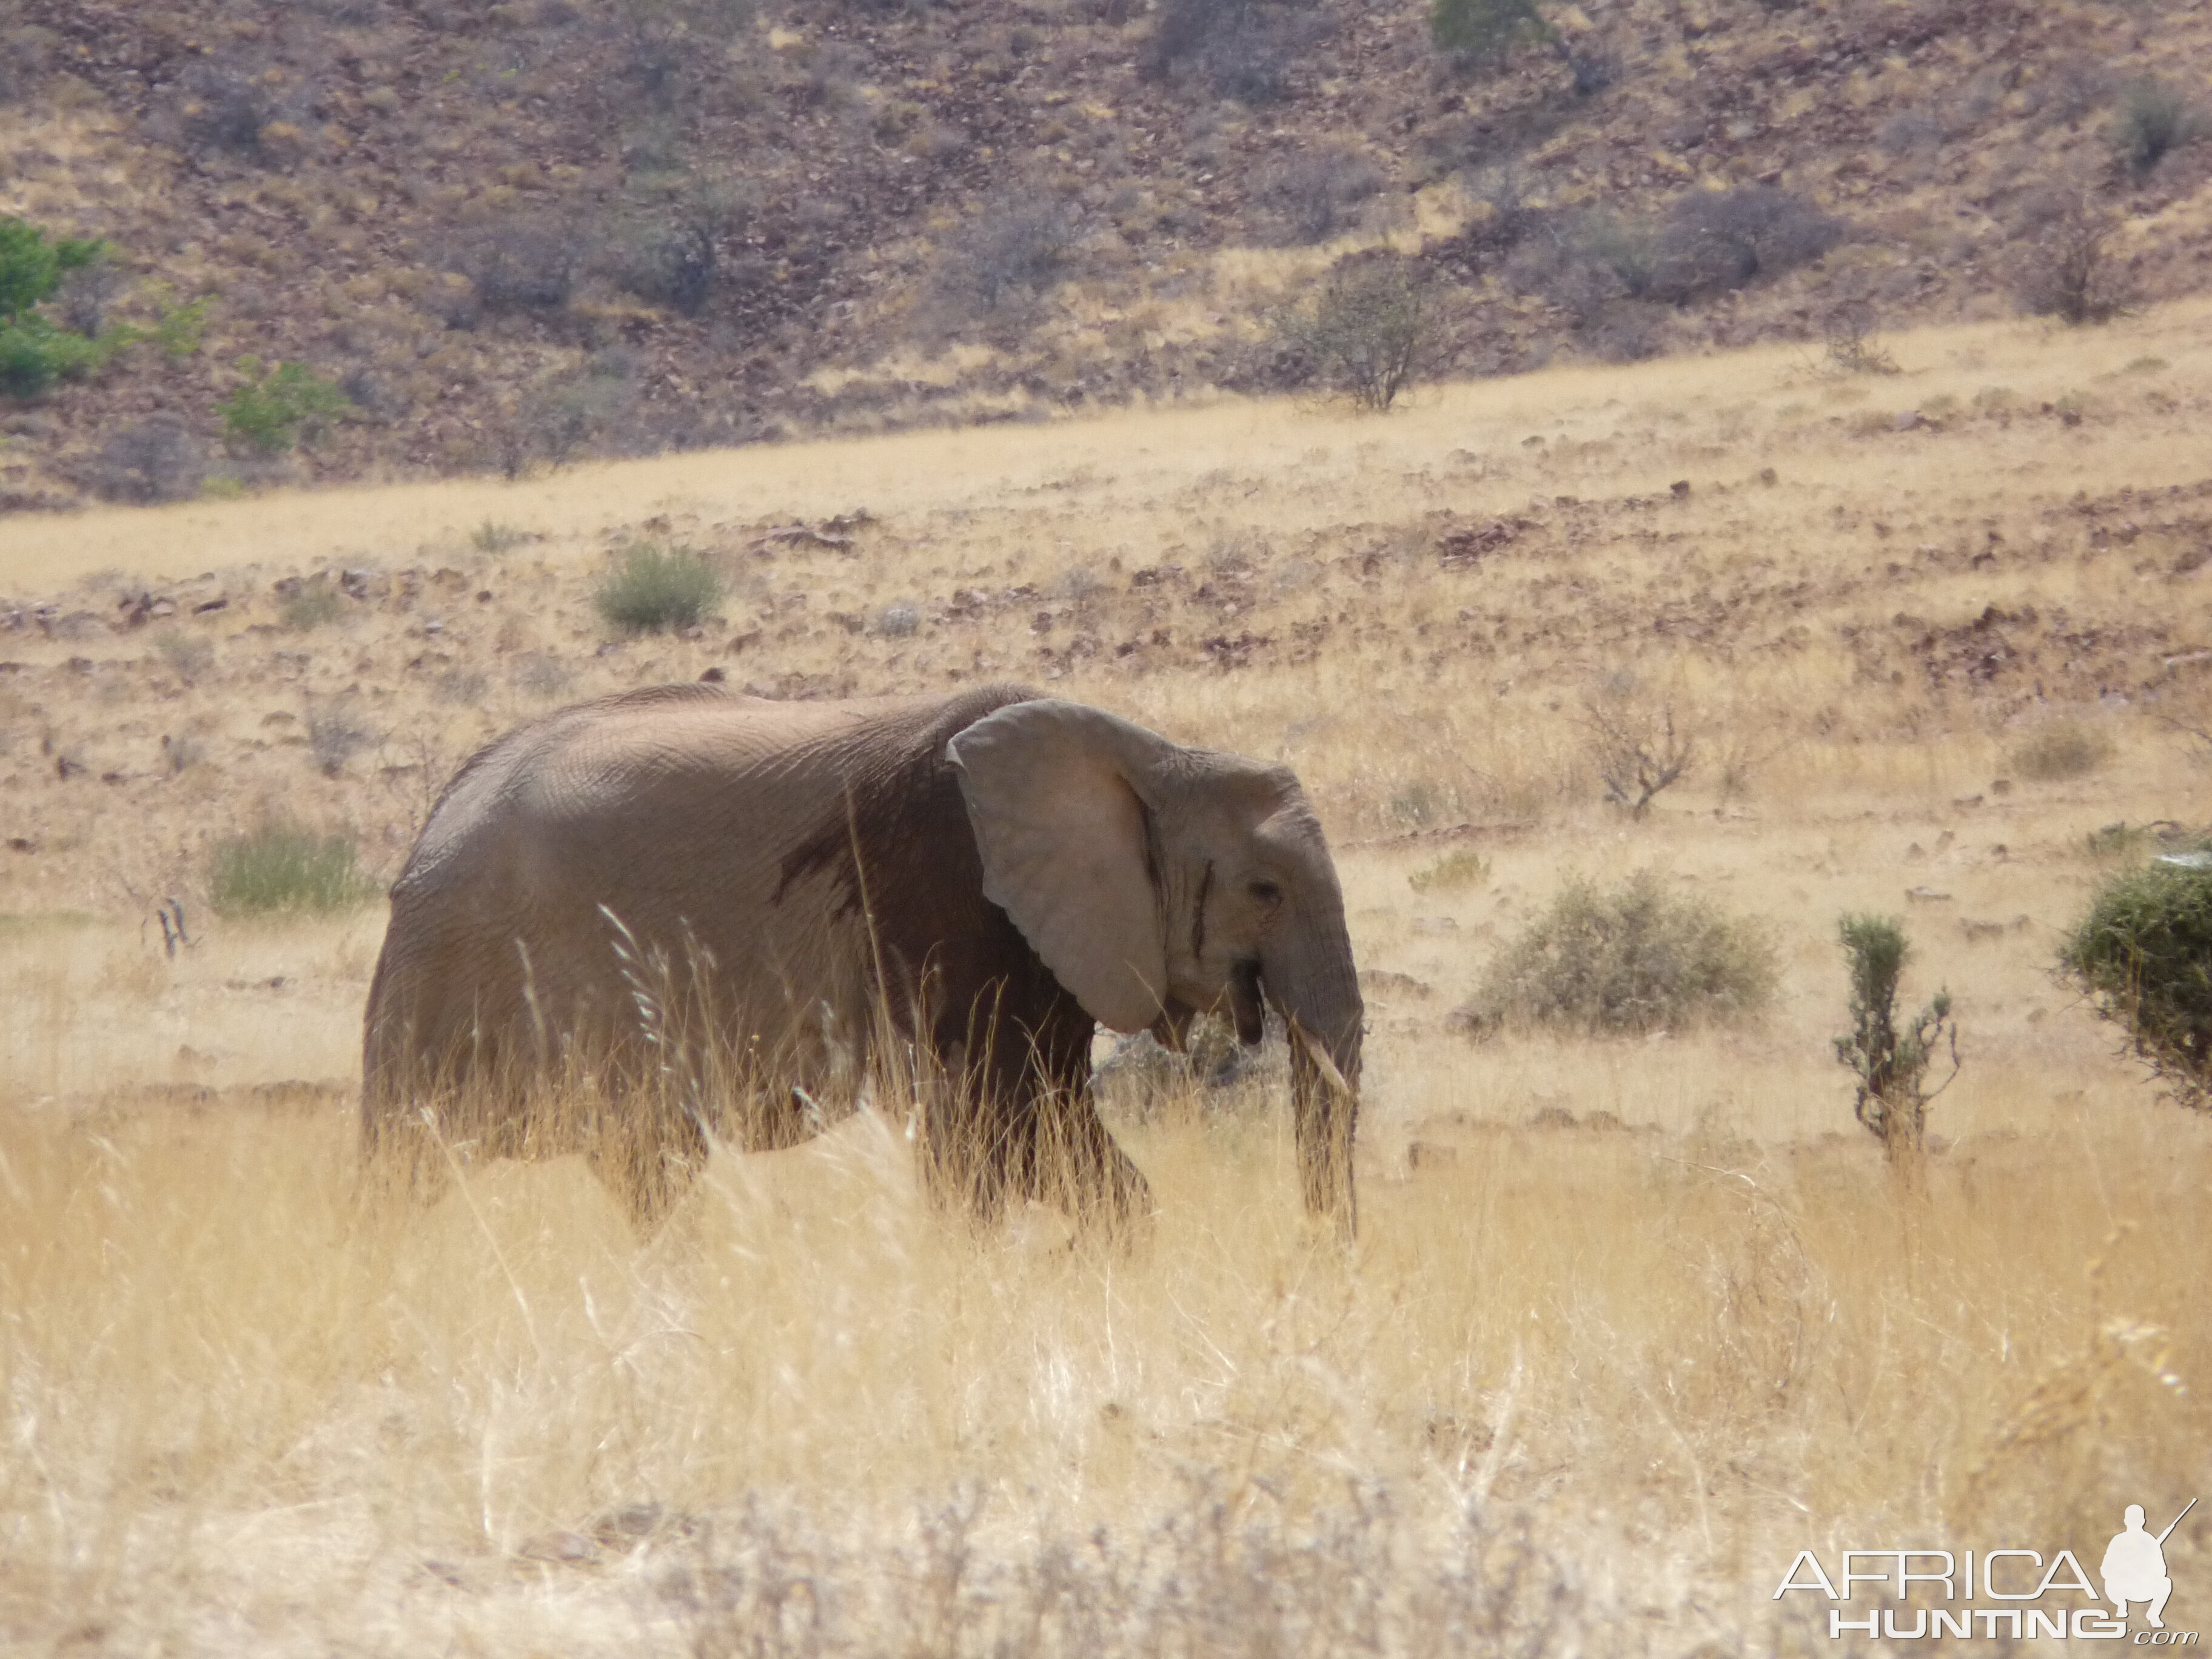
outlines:
M11 18L0 212L111 243L53 321L139 330L0 396L11 509L1287 389L1285 319L1378 257L1429 374L1878 367L2066 252L2117 303L2212 241L2212 13L2166 0L1593 0L1486 62L1416 0ZM276 363L349 409L226 420Z

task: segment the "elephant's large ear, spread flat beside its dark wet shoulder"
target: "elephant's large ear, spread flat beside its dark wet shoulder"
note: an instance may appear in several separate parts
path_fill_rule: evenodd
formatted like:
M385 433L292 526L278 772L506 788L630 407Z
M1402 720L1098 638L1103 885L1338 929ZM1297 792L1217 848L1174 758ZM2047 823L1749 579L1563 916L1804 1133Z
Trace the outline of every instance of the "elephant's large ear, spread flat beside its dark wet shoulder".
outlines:
M1157 732L1097 708L1009 703L945 745L982 852L982 891L1104 1026L1141 1031L1168 993L1161 898L1146 860Z

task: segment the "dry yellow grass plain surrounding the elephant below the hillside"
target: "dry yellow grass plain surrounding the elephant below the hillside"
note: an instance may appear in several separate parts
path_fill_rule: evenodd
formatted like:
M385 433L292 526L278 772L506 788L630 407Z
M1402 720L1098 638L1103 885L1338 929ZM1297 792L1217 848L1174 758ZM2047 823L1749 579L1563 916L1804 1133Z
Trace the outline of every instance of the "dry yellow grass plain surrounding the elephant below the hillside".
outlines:
M1825 1650L1825 1604L1770 1599L1798 1548L2095 1562L2121 1504L2170 1517L2212 1482L2212 1121L2046 964L2106 867L2088 832L2212 816L2161 723L2199 708L2168 657L2212 644L2208 323L1907 336L1869 383L1767 352L1389 420L1225 405L11 522L9 597L49 626L139 586L228 604L0 633L0 1646ZM852 549L763 542L854 509ZM542 540L478 549L487 520ZM726 626L597 655L628 535L723 557ZM325 566L420 582L276 626L270 584ZM878 622L900 599L911 633ZM575 1161L429 1212L356 1192L380 914L208 920L208 841L274 803L389 872L491 732L706 668L1055 675L1290 759L1374 980L1358 1248L1303 1232L1250 1088L1124 1126L1161 1199L1130 1252L1048 1212L947 1228L874 1117L719 1157L644 1248ZM1582 721L1621 686L1705 743L1641 825ZM323 776L334 706L374 743ZM2008 776L2057 719L2110 759ZM1409 883L1462 847L1486 874ZM1447 1026L1568 872L1644 865L1772 922L1761 1024ZM139 925L170 891L204 936L177 958ZM1920 1206L1829 1051L1845 909L1905 914L1909 993L1955 995ZM2201 1515L2168 1542L2179 1628L2212 1606Z

